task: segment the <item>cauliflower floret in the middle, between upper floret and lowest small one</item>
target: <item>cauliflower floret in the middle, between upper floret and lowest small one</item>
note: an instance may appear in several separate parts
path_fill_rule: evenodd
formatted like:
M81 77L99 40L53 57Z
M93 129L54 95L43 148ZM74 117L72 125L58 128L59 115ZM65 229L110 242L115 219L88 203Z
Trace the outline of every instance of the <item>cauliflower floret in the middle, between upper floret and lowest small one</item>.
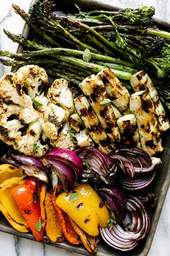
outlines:
M48 103L44 113L43 131L51 140L58 137L58 129L63 127L63 123L67 121L69 112L53 103Z

